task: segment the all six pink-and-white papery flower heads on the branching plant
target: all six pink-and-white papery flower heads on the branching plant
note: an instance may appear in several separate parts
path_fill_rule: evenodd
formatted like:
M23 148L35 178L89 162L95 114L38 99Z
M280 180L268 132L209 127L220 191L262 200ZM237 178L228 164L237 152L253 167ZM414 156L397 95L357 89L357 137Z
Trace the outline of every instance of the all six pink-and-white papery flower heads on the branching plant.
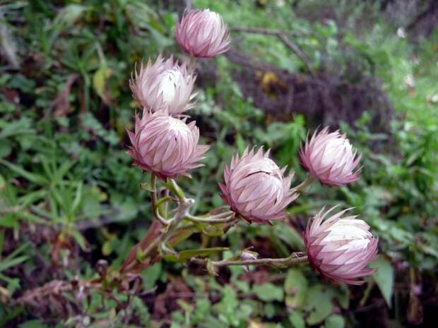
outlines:
M141 116L136 115L134 132L128 131L131 146L127 153L136 166L162 181L189 176L190 169L202 166L199 161L208 146L199 145L199 128L194 121L187 123L186 116L193 107L195 60L223 54L230 44L223 19L208 9L184 13L177 23L175 39L189 59L182 63L172 56L149 59L129 81L133 97L143 111ZM329 133L329 128L315 131L300 150L309 178L292 188L293 171L285 175L286 167L280 169L269 158L269 150L247 147L241 156L232 157L230 166L225 165L224 183L219 183L221 196L234 212L233 218L270 224L287 216L286 207L313 180L330 186L357 181L360 158L345 135ZM344 216L347 210L328 217L332 211L333 208L321 209L309 220L304 232L307 258L330 281L360 284L362 281L356 278L373 272L367 265L377 254L377 238L365 221ZM220 216L213 219L220 220ZM256 255L244 260L258 261Z

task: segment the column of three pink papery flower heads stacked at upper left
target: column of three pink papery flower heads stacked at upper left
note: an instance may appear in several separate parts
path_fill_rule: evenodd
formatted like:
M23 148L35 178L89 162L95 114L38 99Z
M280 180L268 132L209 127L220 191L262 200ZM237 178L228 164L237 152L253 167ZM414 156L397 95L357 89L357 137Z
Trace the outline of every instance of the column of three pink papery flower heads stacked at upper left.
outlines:
M213 57L227 51L229 32L218 13L208 9L189 11L177 24L175 37L182 49L194 57ZM193 107L191 100L196 75L188 61L178 63L161 55L135 70L129 87L143 108L136 116L134 132L128 131L131 146L127 152L134 164L166 178L189 176L208 150L198 145L199 129L194 121L181 119Z

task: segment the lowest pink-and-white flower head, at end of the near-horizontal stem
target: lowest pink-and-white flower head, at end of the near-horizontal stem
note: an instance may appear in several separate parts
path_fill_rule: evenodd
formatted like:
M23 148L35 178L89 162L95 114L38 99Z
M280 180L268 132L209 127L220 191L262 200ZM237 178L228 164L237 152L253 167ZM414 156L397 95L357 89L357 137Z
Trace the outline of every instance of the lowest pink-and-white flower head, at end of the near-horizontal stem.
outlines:
M336 284L363 284L355 278L374 272L367 265L377 255L378 239L365 221L356 216L342 217L348 209L325 219L334 208L325 213L323 208L309 220L304 232L307 257L317 272Z

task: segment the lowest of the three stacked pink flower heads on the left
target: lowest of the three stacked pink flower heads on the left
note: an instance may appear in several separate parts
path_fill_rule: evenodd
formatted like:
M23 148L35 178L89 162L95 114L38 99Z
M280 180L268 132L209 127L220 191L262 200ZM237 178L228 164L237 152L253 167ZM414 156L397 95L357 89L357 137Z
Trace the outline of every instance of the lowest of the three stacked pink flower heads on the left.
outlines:
M134 158L134 165L153 171L159 178L190 176L187 170L202 166L199 160L208 150L198 145L199 129L195 122L168 116L165 111L143 111L136 116L135 132L128 131L132 146L127 154Z

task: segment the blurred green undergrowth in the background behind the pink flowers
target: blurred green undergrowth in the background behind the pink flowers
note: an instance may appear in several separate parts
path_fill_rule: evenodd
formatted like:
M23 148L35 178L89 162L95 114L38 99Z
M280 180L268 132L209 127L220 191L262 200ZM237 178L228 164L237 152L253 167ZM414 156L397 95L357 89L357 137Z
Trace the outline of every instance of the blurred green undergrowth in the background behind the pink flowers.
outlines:
M336 74L337 87L371 78L393 112L379 129L373 121L379 106L361 109L355 122L337 122L362 152L357 183L339 189L315 183L284 222L242 223L220 238L191 238L181 247L230 245L231 254L254 245L263 256L285 256L303 248L307 217L341 200L379 236L379 271L367 284L331 286L307 267L232 267L214 278L196 265L160 262L143 272L145 293L129 302L116 291L114 298L83 298L80 308L57 298L11 302L49 281L91 279L101 258L119 266L146 233L152 216L139 188L146 176L124 153L135 108L127 80L136 61L159 52L182 58L173 28L183 2L0 2L0 327L432 327L438 30L422 35L409 24L433 1L412 1L418 8L396 0L193 1L218 11L230 28L285 31L316 77ZM261 70L257 92L278 83L276 69L311 76L278 37L238 30L232 37L232 51L272 67ZM212 147L206 166L182 179L199 212L223 204L217 186L223 162L248 143L271 147L301 181L300 142L324 123L305 108L273 115L242 92L239 69L228 56L199 63L190 114ZM358 98L366 93L361 89Z

